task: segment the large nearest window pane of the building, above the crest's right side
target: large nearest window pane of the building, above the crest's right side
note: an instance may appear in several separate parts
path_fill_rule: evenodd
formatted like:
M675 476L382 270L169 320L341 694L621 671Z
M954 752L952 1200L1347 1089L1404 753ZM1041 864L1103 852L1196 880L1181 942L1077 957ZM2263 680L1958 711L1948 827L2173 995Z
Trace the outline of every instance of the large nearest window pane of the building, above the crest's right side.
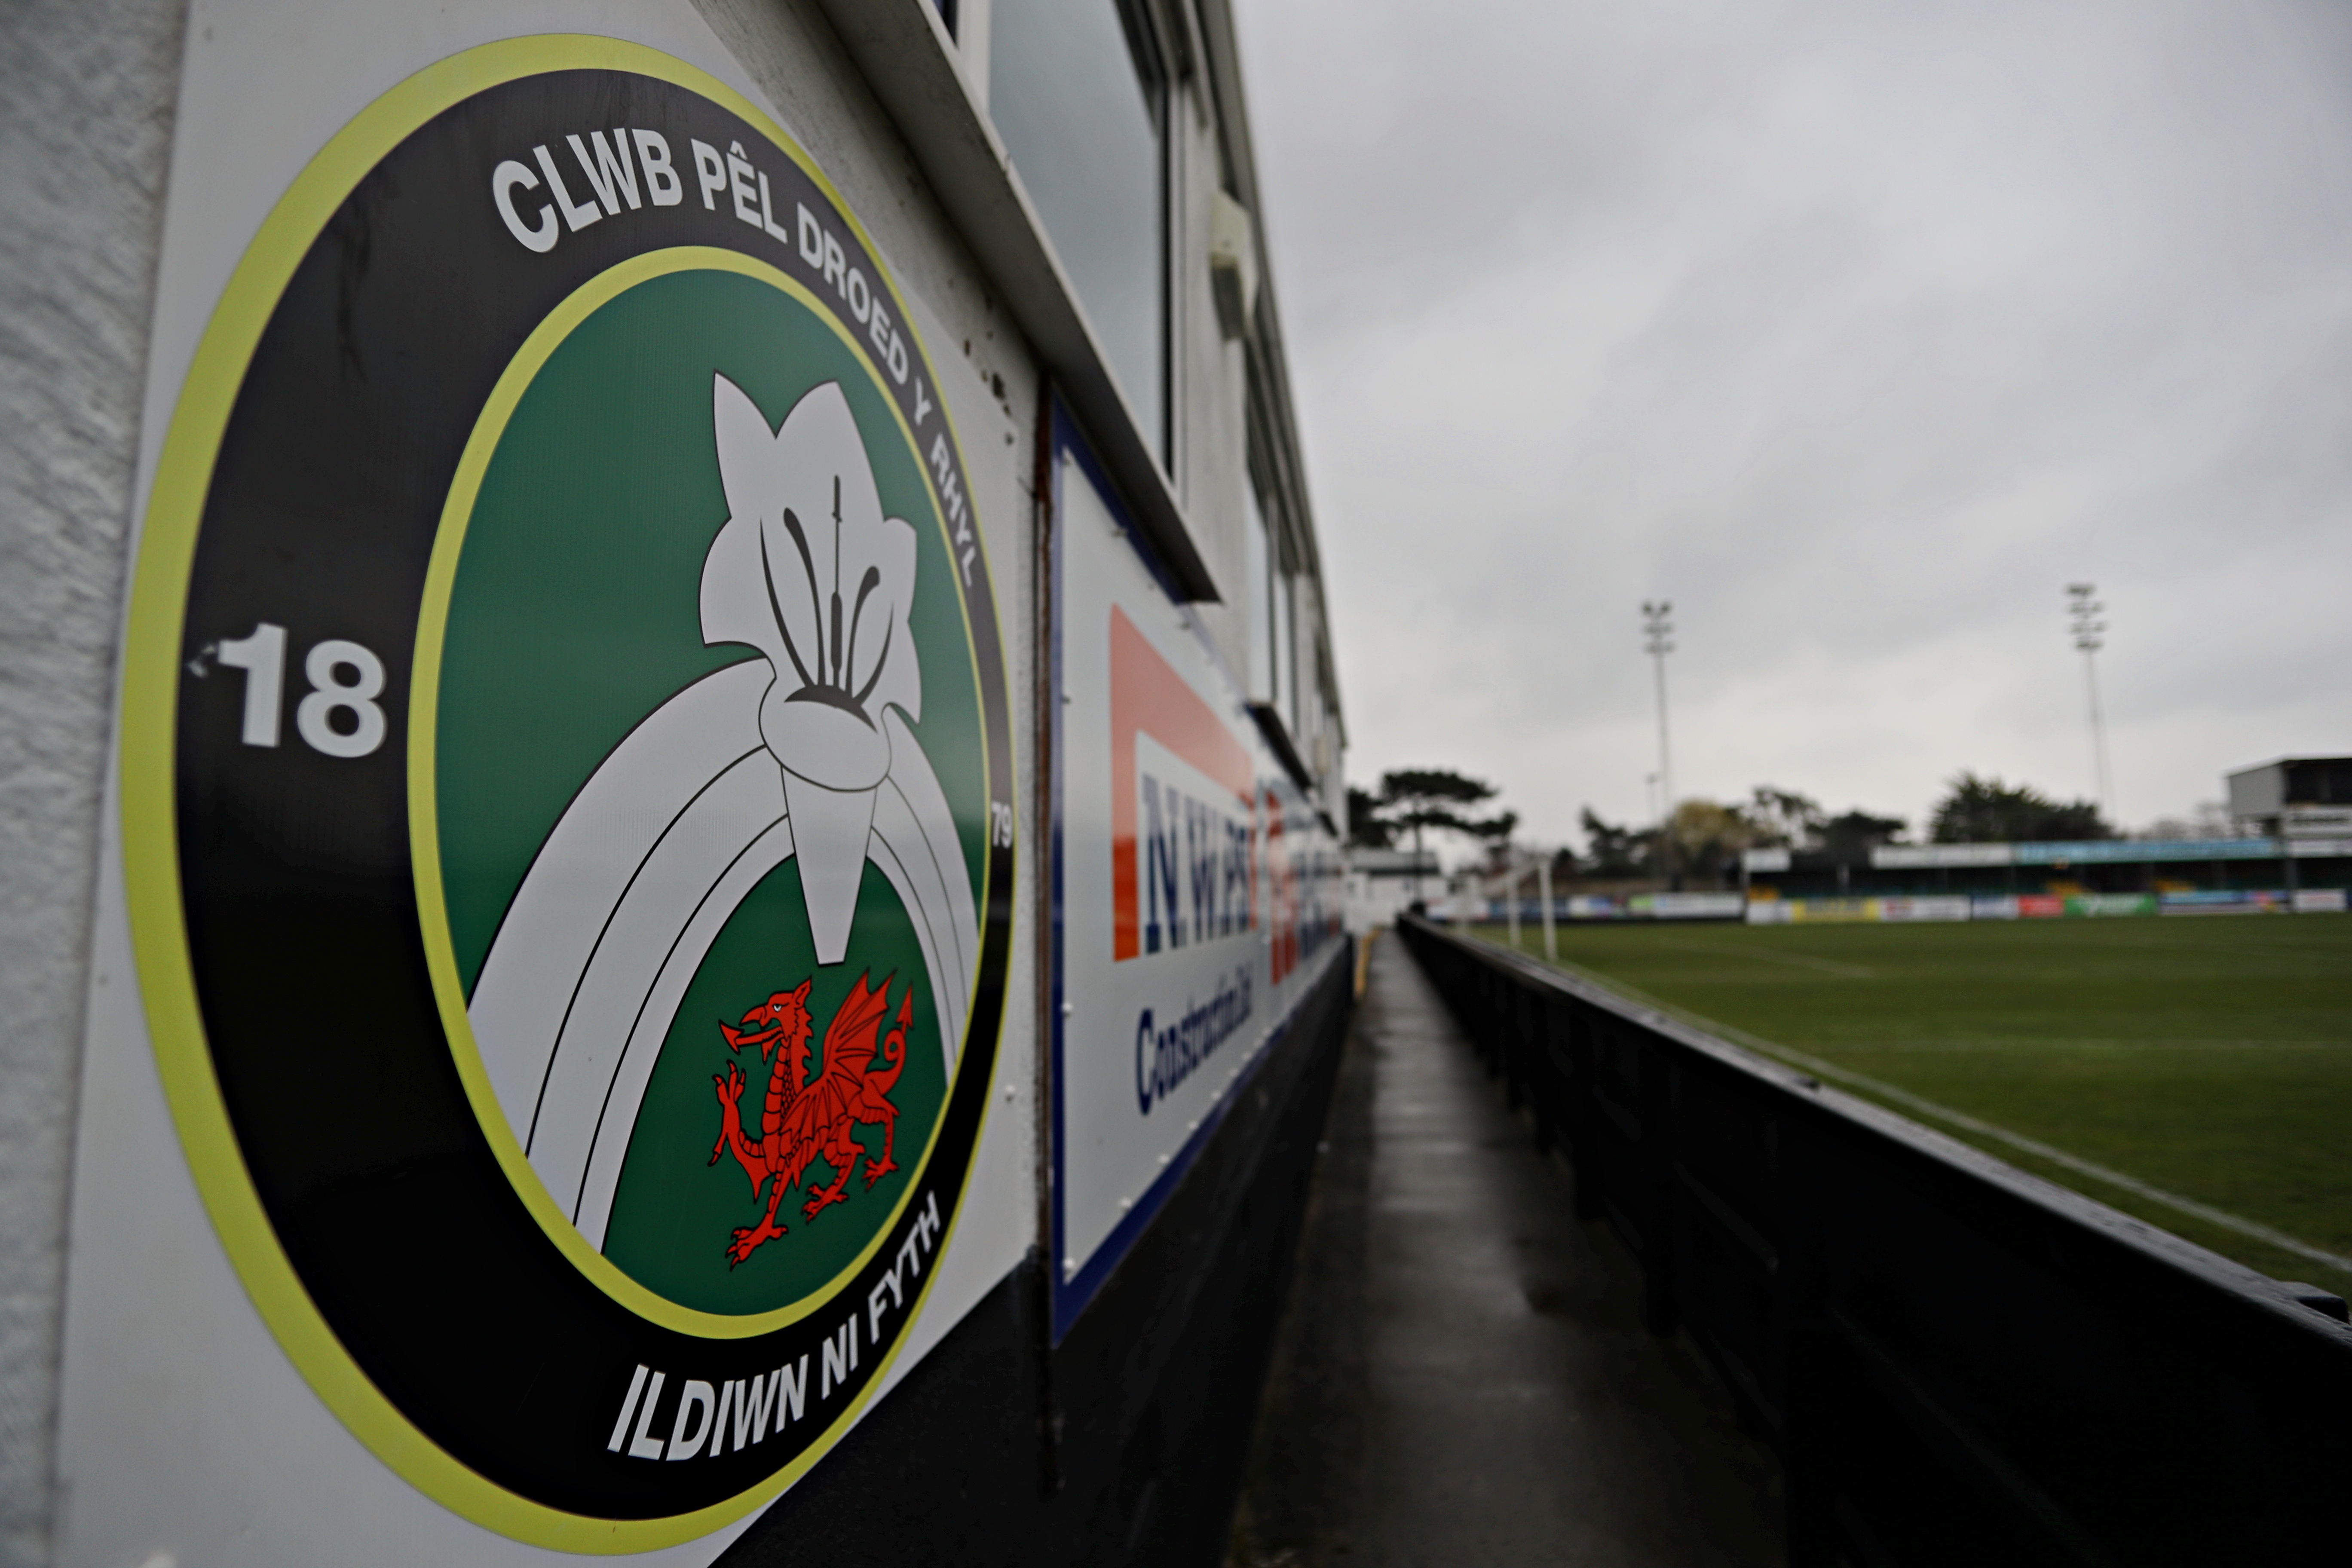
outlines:
M995 0L988 108L1143 437L1169 451L1167 89L1117 0Z

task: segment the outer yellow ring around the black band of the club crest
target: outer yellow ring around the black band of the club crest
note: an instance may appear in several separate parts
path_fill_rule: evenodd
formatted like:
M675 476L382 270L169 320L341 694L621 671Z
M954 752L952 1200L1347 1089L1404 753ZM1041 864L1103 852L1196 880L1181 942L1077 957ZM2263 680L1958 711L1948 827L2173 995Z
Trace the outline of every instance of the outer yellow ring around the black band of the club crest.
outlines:
M270 1326L294 1368L369 1453L454 1514L513 1540L557 1552L628 1554L699 1540L786 1493L856 1422L906 1347L908 1331L901 1331L882 1354L858 1399L800 1458L757 1486L689 1514L666 1519L593 1519L588 1514L569 1514L510 1493L447 1455L367 1380L367 1373L360 1371L334 1338L334 1331L320 1316L318 1305L294 1272L292 1260L285 1255L275 1229L270 1229L261 1197L254 1192L245 1154L228 1124L228 1107L221 1098L219 1077L212 1070L205 1020L195 999L195 969L188 957L188 931L181 919L179 823L172 788L179 717L179 644L186 630L188 578L195 567L205 496L212 489L214 458L221 449L238 388L245 381L245 369L261 341L261 331L268 327L270 313L294 277L294 268L301 266L303 254L327 226L327 219L358 188L360 179L402 139L423 127L433 115L477 92L550 71L630 71L649 75L710 99L757 127L779 153L800 165L816 188L826 193L842 221L856 230L868 256L875 259L877 282L889 289L891 301L898 306L898 322L915 336L917 355L929 362L896 280L882 270L873 237L858 223L849 202L842 200L842 193L767 113L710 73L659 49L616 38L541 33L463 49L397 82L383 96L367 103L320 148L270 209L268 219L263 219L235 273L221 289L221 299L205 324L172 409L172 423L165 430L155 482L148 494L139 552L132 564L129 616L122 639L122 710L118 719L122 882L132 954L155 1048L155 1070L162 1079L165 1100L172 1107L181 1150L188 1157L188 1171L195 1178L230 1265L238 1269L254 1307ZM955 421L943 400L938 402L938 416L948 425L950 442L962 449L962 442L955 437ZM929 475L929 468L924 473ZM985 559L988 543L976 512L974 543ZM964 621L964 635L969 637L969 611ZM1016 759L1007 757L1007 764L1016 766ZM981 907L985 910L985 903ZM1004 990L1004 997L1009 1006L1011 987ZM974 1133L974 1147L985 1135L985 1103L990 1100L995 1100L993 1093L983 1095L981 1128ZM941 1237L941 1248L934 1258L946 1253L960 1220L962 1201L955 1204L948 1234ZM922 1291L915 1295L913 1312L908 1312L908 1328L920 1321L931 1286L938 1281L936 1267L927 1274Z

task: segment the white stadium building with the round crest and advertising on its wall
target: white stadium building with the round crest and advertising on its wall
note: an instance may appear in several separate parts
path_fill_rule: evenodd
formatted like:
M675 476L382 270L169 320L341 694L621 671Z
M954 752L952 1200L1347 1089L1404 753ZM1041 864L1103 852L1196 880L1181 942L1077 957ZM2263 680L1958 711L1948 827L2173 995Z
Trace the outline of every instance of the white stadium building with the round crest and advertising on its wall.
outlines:
M7 35L0 1561L1214 1561L1350 1009L1228 2Z

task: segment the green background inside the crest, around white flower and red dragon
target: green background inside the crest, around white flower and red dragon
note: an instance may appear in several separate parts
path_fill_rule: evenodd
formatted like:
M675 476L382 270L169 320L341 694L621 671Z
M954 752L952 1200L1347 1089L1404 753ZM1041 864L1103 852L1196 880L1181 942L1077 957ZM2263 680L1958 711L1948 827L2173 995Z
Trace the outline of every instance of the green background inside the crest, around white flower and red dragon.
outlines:
M731 270L677 270L593 310L548 355L515 404L466 527L449 597L435 729L435 818L459 978L473 985L506 907L546 837L607 755L661 703L706 675L757 658L706 646L701 571L727 522L710 416L727 376L779 425L804 393L840 383L873 461L882 510L915 522L908 625L922 665L915 738L955 816L964 870L981 893L985 755L964 604L920 454L868 364L830 322L779 287ZM851 985L889 985L884 1032L913 987L898 1107L898 1171L868 1190L851 1173L814 1220L800 1206L840 1171L818 1159L776 1208L786 1237L734 1265L734 1227L757 1225L743 1168L713 1161L713 1077L739 1063L746 1135L776 1067L729 1051L769 994L814 980L821 1067L826 1023ZM670 1023L630 1133L604 1255L656 1295L715 1314L755 1314L823 1288L875 1237L913 1182L948 1095L915 924L873 867L858 891L847 961L818 969L797 863L771 870L734 910ZM960 1037L964 1020L950 1020ZM875 1067L882 1067L882 1058ZM861 1126L868 1159L882 1128Z

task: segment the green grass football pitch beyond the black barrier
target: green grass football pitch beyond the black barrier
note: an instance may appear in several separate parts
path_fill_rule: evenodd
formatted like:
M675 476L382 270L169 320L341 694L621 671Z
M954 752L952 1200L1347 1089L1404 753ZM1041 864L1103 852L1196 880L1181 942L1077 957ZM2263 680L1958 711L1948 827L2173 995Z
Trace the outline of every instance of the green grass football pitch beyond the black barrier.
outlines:
M1498 926L1482 933L1505 940ZM1541 931L1522 929L1519 945L1541 957ZM1559 957L1698 1020L2352 1255L2352 917L1564 924ZM2265 1274L2352 1291L2352 1269L1919 1119Z

